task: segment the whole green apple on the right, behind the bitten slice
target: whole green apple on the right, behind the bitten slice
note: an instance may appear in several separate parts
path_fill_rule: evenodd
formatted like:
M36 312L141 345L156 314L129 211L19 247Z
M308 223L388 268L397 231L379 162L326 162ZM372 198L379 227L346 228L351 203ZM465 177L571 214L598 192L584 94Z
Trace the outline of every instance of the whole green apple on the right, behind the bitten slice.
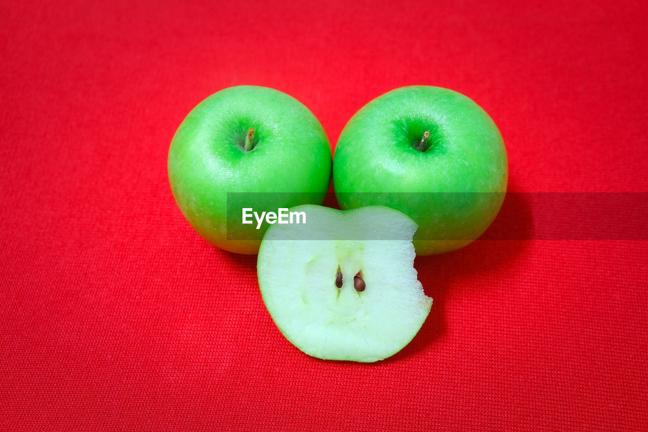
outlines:
M414 143L430 132L428 149ZM495 219L506 192L502 135L468 97L403 87L360 109L340 134L333 185L342 209L383 205L419 225L417 255L456 250Z

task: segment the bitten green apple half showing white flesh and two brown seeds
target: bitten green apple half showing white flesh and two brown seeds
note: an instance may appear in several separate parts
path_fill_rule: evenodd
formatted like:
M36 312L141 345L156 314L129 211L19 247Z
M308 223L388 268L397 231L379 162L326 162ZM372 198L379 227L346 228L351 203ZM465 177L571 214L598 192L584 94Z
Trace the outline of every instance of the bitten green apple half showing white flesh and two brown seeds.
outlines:
M281 333L321 359L371 362L406 346L430 312L413 267L416 224L399 211L291 209L261 243L263 301Z

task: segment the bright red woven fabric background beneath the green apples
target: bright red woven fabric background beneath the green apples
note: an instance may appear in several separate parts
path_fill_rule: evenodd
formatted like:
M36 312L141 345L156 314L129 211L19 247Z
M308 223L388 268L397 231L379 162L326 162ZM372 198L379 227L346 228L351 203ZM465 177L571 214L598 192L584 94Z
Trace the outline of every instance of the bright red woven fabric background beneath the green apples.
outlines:
M166 171L227 86L296 97L334 145L366 102L429 84L491 114L512 191L648 191L647 3L106 3L0 4L0 429L648 428L648 242L418 258L414 341L320 361Z

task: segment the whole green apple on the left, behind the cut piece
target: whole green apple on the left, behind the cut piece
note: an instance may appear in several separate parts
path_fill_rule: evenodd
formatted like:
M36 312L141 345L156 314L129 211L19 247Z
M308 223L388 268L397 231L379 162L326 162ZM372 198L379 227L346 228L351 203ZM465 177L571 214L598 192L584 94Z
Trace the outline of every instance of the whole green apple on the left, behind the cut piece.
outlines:
M253 149L244 149L254 128ZM237 86L200 102L181 123L168 151L171 191L191 226L218 248L256 254L267 226L241 224L227 193L241 206L277 211L321 204L330 184L331 150L318 119L278 90Z

